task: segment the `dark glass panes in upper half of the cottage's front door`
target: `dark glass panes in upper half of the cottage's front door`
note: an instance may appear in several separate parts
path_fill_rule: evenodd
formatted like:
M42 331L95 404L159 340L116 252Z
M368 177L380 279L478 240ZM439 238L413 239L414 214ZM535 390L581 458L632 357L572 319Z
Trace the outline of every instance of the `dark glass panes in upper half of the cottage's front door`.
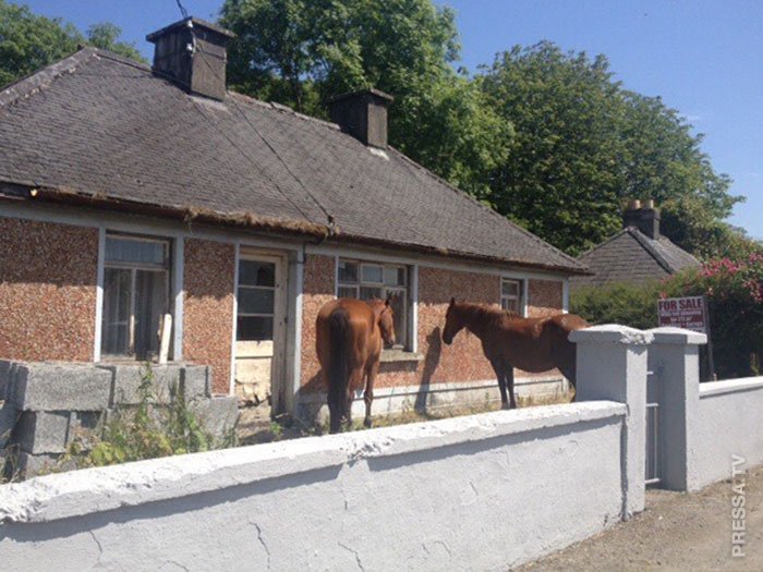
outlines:
M237 341L272 340L276 308L276 264L239 261Z

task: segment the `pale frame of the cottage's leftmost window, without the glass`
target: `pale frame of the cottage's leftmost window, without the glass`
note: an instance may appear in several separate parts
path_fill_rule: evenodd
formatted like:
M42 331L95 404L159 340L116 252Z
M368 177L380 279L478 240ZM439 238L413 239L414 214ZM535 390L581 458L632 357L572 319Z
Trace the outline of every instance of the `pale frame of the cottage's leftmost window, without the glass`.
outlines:
M134 241L134 242L149 242L162 244L166 247L165 251L165 261L161 265L150 264L150 263L130 263L122 260L109 260L107 255L108 241L109 239L116 239L120 241ZM102 288L102 299L100 301L101 315L100 315L100 360L105 361L118 361L118 360L148 360L152 357L150 350L145 355L137 355L135 349L136 342L136 292L137 292L137 272L154 272L165 275L165 303L167 311L161 314L174 315L174 296L173 294L173 267L174 267L174 241L170 238L152 236L144 234L134 233L123 233L123 232L111 232L106 231L104 239L104 283ZM107 316L107 299L106 299L106 272L109 269L114 270L128 270L130 271L130 308L128 317L128 349L125 353L108 353L106 348L106 336L108 328L106 328L106 316ZM172 324L172 329L174 330L174 322ZM174 343L174 331L170 334L170 348ZM160 345L160 344L159 344ZM160 346L157 348L157 354L160 351Z

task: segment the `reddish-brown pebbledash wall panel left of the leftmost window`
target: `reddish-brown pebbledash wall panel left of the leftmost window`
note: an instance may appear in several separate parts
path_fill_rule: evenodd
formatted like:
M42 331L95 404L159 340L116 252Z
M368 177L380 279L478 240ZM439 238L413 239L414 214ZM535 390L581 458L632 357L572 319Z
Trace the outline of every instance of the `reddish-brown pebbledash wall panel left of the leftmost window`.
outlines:
M89 362L98 230L0 217L0 358Z

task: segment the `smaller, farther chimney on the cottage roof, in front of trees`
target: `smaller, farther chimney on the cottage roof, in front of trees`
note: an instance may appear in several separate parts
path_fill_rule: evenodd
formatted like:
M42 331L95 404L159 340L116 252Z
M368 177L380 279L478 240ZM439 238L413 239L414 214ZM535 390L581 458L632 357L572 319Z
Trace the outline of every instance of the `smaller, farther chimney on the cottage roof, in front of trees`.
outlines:
M387 107L392 99L373 88L336 96L328 101L331 121L364 145L386 149Z

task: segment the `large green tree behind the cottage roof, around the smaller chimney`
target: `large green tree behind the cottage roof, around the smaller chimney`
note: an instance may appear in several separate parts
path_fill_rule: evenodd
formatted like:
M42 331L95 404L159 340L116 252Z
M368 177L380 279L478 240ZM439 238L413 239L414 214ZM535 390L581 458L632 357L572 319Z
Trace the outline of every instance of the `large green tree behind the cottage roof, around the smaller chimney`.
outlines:
M479 82L457 73L453 13L431 0L226 0L234 89L326 117L325 101L376 87L395 96L390 143L461 188L486 196L511 126Z

